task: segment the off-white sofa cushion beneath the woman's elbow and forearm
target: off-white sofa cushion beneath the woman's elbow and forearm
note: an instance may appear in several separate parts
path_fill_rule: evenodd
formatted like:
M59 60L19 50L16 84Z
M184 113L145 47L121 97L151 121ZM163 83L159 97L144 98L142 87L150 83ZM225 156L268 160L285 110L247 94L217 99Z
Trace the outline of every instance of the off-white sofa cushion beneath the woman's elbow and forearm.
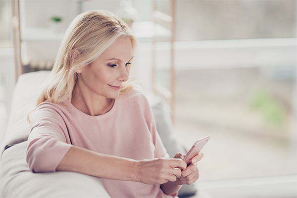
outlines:
M109 198L101 180L75 172L32 173L26 163L27 141L3 152L0 168L4 198Z

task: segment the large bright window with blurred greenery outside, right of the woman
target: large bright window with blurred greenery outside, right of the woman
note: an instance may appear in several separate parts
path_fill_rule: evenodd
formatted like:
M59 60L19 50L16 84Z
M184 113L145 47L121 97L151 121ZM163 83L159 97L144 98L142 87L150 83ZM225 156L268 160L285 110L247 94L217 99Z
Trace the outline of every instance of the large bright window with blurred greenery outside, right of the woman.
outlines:
M296 1L177 7L176 130L211 136L200 181L297 174Z

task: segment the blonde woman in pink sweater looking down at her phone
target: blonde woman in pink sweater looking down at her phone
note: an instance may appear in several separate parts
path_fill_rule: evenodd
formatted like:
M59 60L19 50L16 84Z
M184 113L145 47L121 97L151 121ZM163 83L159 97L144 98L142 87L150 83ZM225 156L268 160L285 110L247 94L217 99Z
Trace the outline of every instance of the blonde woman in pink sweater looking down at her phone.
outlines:
M74 171L102 179L111 197L170 197L198 177L168 158L148 101L129 70L137 39L112 13L88 11L68 27L31 119L33 172Z

